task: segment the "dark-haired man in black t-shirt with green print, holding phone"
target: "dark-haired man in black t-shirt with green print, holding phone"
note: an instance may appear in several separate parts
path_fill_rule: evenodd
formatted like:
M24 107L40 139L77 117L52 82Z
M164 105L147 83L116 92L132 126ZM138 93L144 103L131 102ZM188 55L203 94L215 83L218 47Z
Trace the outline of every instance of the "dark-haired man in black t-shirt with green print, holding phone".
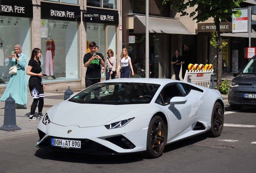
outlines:
M85 88L101 81L101 66L105 66L104 56L96 52L96 43L89 43L90 52L84 56Z

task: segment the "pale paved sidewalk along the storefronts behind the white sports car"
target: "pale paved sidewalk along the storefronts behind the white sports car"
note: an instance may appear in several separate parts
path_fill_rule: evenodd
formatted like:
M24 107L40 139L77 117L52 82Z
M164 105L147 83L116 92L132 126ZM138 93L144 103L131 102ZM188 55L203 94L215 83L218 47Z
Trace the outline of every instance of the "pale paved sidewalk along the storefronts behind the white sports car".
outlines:
M232 73L222 74L222 80L228 79L229 82L233 79ZM216 75L215 75L215 84L216 84ZM77 93L81 90L75 90L74 93ZM45 93L44 97L44 105L43 105L43 113L46 113L48 109L52 106L61 103L64 101L64 92L65 91L57 91L57 92L49 92ZM1 97L2 95L0 95ZM222 95L223 101L225 105L227 105L227 95ZM3 131L0 130L0 139L10 138L10 137L18 137L22 135L30 135L37 133L37 125L40 121L29 121L30 109L33 99L31 95L28 93L27 99L27 109L16 109L16 125L21 128L21 130L16 131ZM0 127L4 125L4 107L5 102L0 101ZM37 113L38 109L36 109Z

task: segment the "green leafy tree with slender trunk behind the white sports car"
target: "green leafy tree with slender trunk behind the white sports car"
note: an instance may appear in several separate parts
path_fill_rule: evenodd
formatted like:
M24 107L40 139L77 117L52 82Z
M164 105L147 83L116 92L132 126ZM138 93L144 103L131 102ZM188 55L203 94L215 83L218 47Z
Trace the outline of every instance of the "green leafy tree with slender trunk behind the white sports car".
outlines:
M214 18L216 31L212 34L213 40L211 40L211 44L217 48L217 89L220 91L222 68L221 48L225 46L220 34L220 19L225 20L227 17L231 17L235 13L233 9L238 8L239 4L245 0L163 0L163 4L166 4L168 1L171 1L171 10L178 9L181 16L189 15L197 23L208 20L211 17ZM187 8L189 7L196 7L196 9L188 14Z

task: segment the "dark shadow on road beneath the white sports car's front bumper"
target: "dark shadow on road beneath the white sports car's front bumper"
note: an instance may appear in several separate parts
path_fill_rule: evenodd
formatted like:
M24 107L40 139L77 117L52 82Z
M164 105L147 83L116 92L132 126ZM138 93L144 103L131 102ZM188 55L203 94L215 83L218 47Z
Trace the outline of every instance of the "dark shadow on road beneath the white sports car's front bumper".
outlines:
M140 154L127 155L89 155L85 153L72 153L38 149L35 156L40 159L87 164L122 164L143 161Z

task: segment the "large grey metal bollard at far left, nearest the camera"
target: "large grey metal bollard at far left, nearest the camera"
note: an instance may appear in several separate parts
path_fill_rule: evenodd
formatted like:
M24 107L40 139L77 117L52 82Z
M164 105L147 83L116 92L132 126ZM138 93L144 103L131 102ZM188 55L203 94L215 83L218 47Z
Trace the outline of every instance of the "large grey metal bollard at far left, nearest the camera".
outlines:
M5 100L4 125L0 127L0 130L4 130L4 131L21 130L21 128L16 125L15 100L11 97L11 94Z

